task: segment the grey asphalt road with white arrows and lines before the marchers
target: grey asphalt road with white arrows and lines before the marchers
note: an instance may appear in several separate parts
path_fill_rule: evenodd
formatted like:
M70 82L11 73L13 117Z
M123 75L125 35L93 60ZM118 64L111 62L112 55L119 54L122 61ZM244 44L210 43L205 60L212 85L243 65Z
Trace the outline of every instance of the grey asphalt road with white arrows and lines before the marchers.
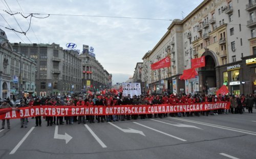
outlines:
M34 125L11 120L0 158L256 158L255 113Z

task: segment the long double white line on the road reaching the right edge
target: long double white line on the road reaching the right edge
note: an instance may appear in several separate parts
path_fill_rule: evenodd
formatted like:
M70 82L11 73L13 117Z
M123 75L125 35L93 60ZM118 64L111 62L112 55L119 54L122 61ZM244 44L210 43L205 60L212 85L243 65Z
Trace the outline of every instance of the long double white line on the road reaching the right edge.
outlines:
M239 133L244 133L244 134L249 134L249 135L255 135L256 136L256 132L254 132L254 131L248 131L248 130L233 128L233 127L227 127L227 126L222 126L222 125L204 123L204 122L199 122L199 121L194 121L194 120L177 119L177 118L171 118L171 119L176 119L176 120L181 120L181 121L186 121L186 122L191 122L191 123L196 123L196 124L201 124L201 125L206 125L206 126L211 126L211 127L217 127L217 128L222 128L222 129L226 129L226 130L230 130L230 131L236 131L236 132L239 132Z

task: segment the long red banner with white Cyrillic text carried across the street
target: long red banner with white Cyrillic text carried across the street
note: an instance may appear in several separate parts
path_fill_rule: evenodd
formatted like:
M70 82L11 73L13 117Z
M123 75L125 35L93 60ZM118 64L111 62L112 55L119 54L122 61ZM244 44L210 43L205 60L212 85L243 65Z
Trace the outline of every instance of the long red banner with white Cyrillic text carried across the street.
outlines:
M230 102L203 102L193 104L156 104L156 105L116 105L113 107L70 107L70 106L34 106L18 110L0 109L0 119L28 118L34 116L81 116L81 115L124 115L197 112L216 109L229 109ZM1 113L2 112L2 113Z

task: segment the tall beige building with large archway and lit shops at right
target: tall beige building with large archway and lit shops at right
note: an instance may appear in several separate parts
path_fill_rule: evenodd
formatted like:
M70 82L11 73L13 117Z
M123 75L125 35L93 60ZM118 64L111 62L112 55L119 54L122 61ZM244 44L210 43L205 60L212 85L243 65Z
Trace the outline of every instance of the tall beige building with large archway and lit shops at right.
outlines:
M215 93L226 85L230 93L256 93L255 1L205 0L184 19L174 19L167 32L147 52L143 78L156 91L164 80L169 93ZM170 56L171 67L152 71L150 65ZM191 59L205 56L198 76L180 80ZM254 92L255 91L255 92Z

